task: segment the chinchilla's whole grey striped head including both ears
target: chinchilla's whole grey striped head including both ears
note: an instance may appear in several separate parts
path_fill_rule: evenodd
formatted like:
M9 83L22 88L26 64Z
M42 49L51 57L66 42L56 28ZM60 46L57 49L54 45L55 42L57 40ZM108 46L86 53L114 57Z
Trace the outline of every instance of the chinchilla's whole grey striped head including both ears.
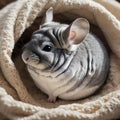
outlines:
M70 25L53 22L53 9L47 10L39 30L24 46L23 61L36 69L59 69L89 32L89 23L78 18Z

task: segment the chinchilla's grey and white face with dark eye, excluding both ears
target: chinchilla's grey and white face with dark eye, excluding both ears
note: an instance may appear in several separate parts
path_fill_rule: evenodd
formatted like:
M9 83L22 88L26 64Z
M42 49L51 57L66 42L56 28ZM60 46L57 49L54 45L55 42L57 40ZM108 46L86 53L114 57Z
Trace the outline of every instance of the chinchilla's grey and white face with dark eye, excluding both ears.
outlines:
M67 49L62 48L62 43L58 43L53 31L56 27L45 26L41 30L33 33L30 42L28 42L22 53L23 61L32 67L38 69L46 69L56 66L61 59L61 64L64 63L69 55Z

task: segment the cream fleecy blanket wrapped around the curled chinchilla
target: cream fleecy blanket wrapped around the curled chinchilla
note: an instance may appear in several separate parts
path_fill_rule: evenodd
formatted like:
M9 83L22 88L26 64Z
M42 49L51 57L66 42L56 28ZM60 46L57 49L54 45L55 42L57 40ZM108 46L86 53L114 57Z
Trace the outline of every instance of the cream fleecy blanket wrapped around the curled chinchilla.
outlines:
M14 49L21 36L39 27L49 7L63 22L85 17L110 47L110 73L105 85L84 100L47 102ZM115 0L18 0L0 11L0 113L12 120L106 120L120 118L120 4ZM37 19L36 19L37 18ZM35 20L36 19L36 20ZM32 24L33 22L36 23ZM31 26L31 27L30 27ZM29 27L29 28L28 28ZM28 28L28 29L27 29ZM96 31L95 28L93 28ZM23 34L23 35L22 35ZM101 37L101 34L98 33ZM24 41L24 39L23 39ZM16 52L17 57L12 57Z

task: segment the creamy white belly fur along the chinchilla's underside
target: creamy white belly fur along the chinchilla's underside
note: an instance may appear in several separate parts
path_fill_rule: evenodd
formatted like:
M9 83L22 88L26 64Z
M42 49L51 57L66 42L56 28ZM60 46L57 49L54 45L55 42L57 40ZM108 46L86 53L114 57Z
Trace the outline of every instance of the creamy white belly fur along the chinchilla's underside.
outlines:
M69 82L70 78L72 78L75 75L75 72L68 71L69 76L66 78L64 76L64 80L61 81L60 78L54 78L50 76L49 73L43 73L44 75L41 75L39 71L32 71L31 69L29 69L29 67L28 71L30 72L36 86L39 89L41 89L44 93L46 93L48 96L59 97L65 100L76 100L86 97L93 93L99 87L85 87L83 85L71 91L70 89L74 87L74 84L76 82L78 82L76 80L72 80L71 82Z

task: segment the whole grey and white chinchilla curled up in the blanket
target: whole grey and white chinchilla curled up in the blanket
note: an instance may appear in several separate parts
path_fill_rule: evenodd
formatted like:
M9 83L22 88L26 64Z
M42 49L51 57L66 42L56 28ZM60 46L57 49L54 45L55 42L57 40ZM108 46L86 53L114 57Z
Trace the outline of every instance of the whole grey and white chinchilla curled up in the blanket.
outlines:
M78 18L71 25L52 22L52 9L25 45L22 58L50 102L56 97L76 100L93 94L106 80L109 69L107 51L89 33L87 20Z

